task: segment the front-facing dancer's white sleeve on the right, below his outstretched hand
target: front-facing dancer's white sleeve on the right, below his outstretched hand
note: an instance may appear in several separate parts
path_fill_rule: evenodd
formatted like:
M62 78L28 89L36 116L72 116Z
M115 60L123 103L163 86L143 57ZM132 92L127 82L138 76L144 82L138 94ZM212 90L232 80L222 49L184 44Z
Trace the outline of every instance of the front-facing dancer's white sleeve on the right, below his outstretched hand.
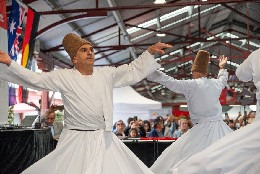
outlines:
M137 83L151 74L161 65L157 63L154 56L147 50L129 65L113 67L112 84L113 88L124 87Z

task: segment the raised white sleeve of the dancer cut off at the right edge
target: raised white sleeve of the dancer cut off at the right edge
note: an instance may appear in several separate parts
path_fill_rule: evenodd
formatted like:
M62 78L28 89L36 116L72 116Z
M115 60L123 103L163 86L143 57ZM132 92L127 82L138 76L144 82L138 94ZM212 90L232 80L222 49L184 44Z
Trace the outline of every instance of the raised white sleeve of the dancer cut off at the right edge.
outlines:
M246 60L244 60L243 63L241 63L238 68L236 69L236 76L239 80L243 82L251 81L253 78L252 72L251 72L251 63L252 58L254 56L254 52L251 53Z

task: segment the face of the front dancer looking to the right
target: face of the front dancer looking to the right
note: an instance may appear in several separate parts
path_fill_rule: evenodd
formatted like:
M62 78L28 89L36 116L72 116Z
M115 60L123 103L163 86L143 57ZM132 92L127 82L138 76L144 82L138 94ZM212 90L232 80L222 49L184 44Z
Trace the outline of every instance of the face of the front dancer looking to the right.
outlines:
M85 44L79 47L74 59L74 64L88 64L88 65L94 65L95 62L95 54L94 54L94 48L89 45Z

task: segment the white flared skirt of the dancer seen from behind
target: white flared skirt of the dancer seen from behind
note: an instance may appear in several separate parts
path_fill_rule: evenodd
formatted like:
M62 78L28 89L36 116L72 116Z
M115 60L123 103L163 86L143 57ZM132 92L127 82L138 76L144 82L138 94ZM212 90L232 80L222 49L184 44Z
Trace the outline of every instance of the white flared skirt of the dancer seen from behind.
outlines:
M222 120L195 124L165 149L150 169L155 174L172 174L173 169L186 159L231 132L233 130Z

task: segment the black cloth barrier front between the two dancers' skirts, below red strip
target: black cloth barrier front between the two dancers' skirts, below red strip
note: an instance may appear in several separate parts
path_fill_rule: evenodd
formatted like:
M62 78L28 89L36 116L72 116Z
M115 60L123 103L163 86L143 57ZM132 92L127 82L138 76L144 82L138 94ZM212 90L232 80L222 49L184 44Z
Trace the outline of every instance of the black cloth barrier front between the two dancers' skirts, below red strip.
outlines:
M150 168L155 160L174 142L174 140L123 140L123 142L148 168Z

